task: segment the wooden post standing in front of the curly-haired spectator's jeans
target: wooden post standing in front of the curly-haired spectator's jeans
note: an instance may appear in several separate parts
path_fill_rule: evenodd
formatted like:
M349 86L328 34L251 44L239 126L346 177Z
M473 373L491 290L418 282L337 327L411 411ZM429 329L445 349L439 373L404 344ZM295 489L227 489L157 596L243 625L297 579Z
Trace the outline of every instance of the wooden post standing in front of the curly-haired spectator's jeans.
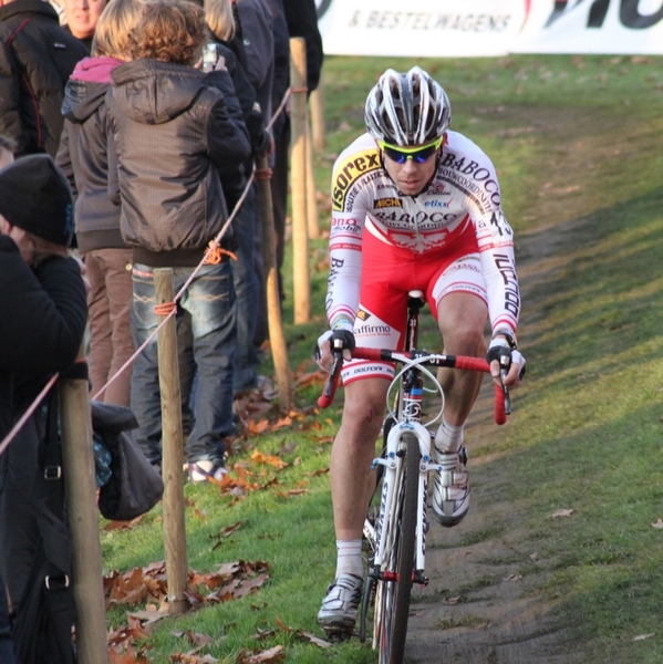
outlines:
M173 302L173 270L154 270L157 304ZM165 317L158 317L159 322ZM168 606L170 615L182 615L188 609L185 595L187 584L186 528L184 519L184 449L182 432L182 397L177 332L175 317L158 333L159 391L162 396L162 440L164 477L164 549L168 577Z

